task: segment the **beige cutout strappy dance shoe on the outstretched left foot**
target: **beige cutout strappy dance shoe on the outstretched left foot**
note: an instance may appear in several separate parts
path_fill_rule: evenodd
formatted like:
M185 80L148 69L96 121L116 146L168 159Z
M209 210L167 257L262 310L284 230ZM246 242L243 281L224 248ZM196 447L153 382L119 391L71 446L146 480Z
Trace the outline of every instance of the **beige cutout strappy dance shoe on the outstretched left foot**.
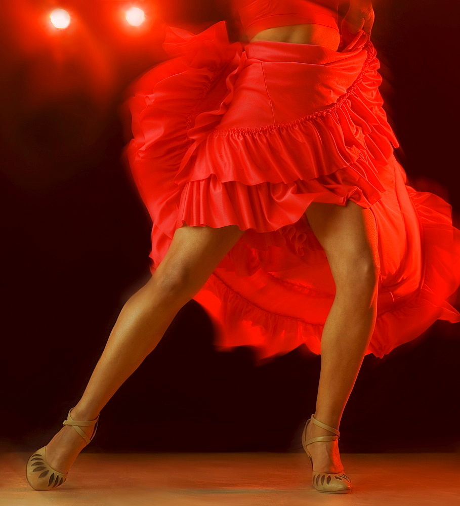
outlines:
M97 418L90 421L74 420L70 416L70 411L72 409L73 408L69 409L67 419L63 421L62 425L71 425L86 441L86 444L88 446L96 434L99 415ZM80 427L90 427L92 425L95 427L91 438L89 438L85 432L80 429ZM51 490L53 488L57 488L59 485L62 485L65 482L68 474L68 472L65 474L60 473L49 465L46 456L46 446L41 447L35 453L30 455L29 459L27 460L26 479L29 485L35 490Z

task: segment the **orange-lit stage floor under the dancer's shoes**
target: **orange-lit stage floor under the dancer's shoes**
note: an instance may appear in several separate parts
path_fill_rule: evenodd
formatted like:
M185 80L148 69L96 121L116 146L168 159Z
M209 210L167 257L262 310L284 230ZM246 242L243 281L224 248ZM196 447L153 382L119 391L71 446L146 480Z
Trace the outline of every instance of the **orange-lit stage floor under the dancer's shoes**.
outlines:
M25 479L29 453L0 454L1 506L458 506L458 453L343 453L353 490L311 485L302 453L89 453L67 481L36 491Z

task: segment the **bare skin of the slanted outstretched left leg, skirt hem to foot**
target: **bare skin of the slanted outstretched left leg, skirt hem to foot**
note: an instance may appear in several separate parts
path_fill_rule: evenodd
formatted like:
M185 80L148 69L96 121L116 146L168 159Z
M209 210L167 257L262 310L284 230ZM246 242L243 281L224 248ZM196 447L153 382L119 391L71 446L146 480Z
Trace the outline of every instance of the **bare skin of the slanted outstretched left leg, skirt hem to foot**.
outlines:
M223 228L185 225L176 230L154 275L121 309L86 390L71 411L73 419L97 417L242 234L236 225ZM91 437L94 427L81 429ZM66 473L85 446L72 427L64 426L47 445L50 466Z

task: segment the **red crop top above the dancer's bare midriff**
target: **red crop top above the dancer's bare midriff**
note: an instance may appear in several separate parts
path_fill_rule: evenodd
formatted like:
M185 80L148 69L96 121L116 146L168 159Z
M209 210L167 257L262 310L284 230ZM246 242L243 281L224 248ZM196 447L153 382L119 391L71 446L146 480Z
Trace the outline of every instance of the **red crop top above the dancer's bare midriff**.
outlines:
M339 0L234 0L249 39L275 26L315 23L339 30Z

